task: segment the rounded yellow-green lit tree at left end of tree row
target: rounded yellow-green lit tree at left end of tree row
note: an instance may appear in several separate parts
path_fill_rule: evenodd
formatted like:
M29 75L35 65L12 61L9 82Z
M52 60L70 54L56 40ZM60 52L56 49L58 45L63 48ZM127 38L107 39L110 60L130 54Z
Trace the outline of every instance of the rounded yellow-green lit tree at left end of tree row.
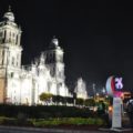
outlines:
M50 99L52 98L51 93L41 93L39 95L40 101L45 102L47 104L50 102Z

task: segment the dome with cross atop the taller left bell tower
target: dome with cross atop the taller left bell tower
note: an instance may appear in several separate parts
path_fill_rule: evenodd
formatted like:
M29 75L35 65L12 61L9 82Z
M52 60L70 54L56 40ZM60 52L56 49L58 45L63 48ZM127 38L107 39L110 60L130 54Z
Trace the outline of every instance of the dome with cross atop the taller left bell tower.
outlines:
M13 12L11 12L11 7L9 6L9 10L8 12L4 13L3 19L8 20L8 21L14 21L14 14Z

